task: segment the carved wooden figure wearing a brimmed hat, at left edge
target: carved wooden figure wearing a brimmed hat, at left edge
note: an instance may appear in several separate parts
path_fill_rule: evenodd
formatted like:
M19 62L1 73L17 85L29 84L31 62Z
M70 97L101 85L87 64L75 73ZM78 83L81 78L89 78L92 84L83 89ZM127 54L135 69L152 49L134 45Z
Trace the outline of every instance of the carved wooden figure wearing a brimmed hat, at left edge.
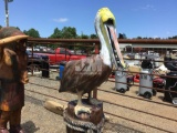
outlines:
M15 28L0 29L0 133L23 133L21 110L24 105L24 83L29 81L27 39L28 35Z

